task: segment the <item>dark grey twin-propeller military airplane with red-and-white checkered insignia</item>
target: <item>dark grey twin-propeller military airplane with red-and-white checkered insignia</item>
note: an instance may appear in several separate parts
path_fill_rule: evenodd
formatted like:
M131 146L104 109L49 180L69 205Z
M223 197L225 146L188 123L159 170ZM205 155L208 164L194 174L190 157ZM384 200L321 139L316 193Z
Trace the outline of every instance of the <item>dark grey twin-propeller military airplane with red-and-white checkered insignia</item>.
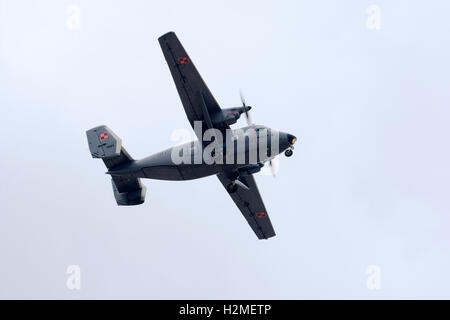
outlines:
M282 152L287 157L292 156L297 138L252 124L251 106L246 105L242 94L242 106L222 109L176 34L168 32L158 41L198 140L135 160L122 146L122 140L107 126L86 131L92 157L103 160L108 169L106 173L112 178L117 204L144 203L146 187L141 183L142 178L181 181L216 175L258 239L274 237L275 230L253 174L265 163L273 168L273 158ZM231 129L230 125L242 114L245 114L248 126ZM223 134L222 138L220 134ZM179 157L187 161L180 161ZM225 158L231 161L224 161ZM214 160L212 163L211 159Z

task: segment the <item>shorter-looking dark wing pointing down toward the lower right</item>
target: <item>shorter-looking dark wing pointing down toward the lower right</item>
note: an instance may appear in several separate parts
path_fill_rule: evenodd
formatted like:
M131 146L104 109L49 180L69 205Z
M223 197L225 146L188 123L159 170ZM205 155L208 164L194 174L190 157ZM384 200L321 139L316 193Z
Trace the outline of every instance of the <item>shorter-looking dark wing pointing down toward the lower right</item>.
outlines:
M220 173L217 177L225 188L232 181L225 173ZM258 239L274 237L275 230L273 230L266 207L259 194L255 178L248 175L241 176L240 179L248 187L248 190L239 187L235 193L230 193L231 198L241 210Z

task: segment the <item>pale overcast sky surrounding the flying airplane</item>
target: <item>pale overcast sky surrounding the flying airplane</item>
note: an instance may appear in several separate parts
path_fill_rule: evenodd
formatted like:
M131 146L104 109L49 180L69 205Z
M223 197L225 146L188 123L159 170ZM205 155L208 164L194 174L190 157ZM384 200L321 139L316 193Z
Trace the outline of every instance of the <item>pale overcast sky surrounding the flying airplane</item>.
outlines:
M450 298L449 10L0 0L0 298ZM190 130L167 31L223 107L241 88L256 123L300 138L275 179L256 176L275 238L256 239L214 176L143 180L146 202L118 207L91 158L96 125L135 158Z

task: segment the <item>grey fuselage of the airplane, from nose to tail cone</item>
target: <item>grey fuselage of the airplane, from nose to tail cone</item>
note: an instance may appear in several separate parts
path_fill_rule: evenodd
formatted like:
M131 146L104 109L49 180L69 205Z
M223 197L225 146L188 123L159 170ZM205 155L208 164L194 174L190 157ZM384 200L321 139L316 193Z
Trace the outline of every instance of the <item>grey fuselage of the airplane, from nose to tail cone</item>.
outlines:
M272 137L277 139L278 143L273 144ZM232 139L231 143L228 140L230 138ZM178 181L198 179L223 171L240 169L257 172L265 162L270 161L286 149L293 148L293 138L295 138L293 135L265 126L249 126L232 130L231 136L224 137L223 152L221 157L219 156L222 161L207 163L205 160L208 158L203 154L196 158L199 150L204 152L205 146L213 143L204 143L202 148L197 140L166 149L140 160L133 160L123 166L110 169L107 174ZM250 139L255 139L255 142ZM239 143L242 143L241 147ZM174 161L177 156L182 157L186 151L189 153L184 159L188 159L188 161L181 163ZM230 159L232 160L230 161Z

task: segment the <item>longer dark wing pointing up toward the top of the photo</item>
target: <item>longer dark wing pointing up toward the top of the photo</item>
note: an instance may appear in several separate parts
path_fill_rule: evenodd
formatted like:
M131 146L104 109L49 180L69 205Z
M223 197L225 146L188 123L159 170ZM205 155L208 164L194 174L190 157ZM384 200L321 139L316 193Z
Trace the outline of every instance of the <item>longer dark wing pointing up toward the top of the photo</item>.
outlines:
M194 128L194 121L203 121L203 131L212 128L211 116L221 112L221 109L191 58L174 32L162 35L158 41L192 128ZM227 128L228 126L225 125L216 129ZM202 137L198 138L202 140Z

